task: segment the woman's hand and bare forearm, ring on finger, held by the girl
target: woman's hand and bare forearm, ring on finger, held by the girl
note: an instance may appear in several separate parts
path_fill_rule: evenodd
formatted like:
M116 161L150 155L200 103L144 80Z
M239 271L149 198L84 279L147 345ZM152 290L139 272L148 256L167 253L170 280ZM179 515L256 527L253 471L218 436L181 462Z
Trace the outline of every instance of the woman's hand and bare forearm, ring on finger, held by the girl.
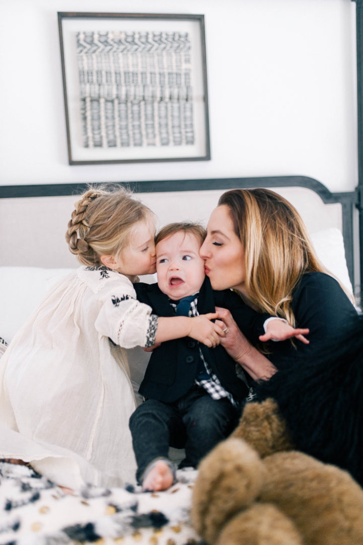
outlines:
M216 324L222 325L224 337L221 345L228 354L239 364L253 380L267 380L276 373L276 367L265 358L257 348L252 346L234 321L226 308L216 307L219 320Z

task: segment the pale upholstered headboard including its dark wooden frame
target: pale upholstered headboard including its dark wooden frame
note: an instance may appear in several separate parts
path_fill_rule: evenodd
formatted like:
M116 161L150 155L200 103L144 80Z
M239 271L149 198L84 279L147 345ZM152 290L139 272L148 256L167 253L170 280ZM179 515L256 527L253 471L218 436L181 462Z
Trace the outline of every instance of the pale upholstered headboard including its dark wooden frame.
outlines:
M304 176L163 180L123 183L158 216L159 226L193 220L206 224L218 197L233 187L271 187L295 205L311 234L337 228L344 239L350 281L357 291L354 266L355 193L331 193ZM76 267L64 233L77 195L87 184L0 186L0 264Z

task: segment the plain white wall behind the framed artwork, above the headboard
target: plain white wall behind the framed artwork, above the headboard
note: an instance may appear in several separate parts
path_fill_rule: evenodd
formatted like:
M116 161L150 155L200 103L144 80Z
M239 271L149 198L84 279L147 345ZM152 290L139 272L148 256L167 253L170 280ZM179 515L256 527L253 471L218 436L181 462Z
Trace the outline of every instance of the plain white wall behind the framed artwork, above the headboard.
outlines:
M203 13L212 160L69 166L57 11ZM351 0L1 0L0 66L0 185L358 180Z

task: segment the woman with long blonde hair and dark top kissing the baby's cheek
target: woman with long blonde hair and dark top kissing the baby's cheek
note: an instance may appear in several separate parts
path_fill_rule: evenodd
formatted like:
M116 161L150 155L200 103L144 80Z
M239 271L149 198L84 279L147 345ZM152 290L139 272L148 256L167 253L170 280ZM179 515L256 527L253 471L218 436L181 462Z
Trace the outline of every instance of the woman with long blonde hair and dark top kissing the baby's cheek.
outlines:
M357 312L340 284L319 262L301 217L267 189L223 193L213 210L200 255L213 289L233 288L249 306L310 330L309 344L269 342L265 355L219 309L229 333L221 344L254 380L314 358L344 340Z

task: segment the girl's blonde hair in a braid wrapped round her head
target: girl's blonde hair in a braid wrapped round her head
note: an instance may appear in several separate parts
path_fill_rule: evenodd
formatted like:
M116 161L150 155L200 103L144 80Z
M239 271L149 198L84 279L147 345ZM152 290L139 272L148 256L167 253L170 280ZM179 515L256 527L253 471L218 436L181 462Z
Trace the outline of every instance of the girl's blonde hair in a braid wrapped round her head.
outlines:
M118 185L91 187L74 204L68 222L69 250L83 265L100 265L100 256L118 256L136 223L152 211Z

